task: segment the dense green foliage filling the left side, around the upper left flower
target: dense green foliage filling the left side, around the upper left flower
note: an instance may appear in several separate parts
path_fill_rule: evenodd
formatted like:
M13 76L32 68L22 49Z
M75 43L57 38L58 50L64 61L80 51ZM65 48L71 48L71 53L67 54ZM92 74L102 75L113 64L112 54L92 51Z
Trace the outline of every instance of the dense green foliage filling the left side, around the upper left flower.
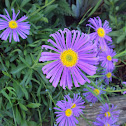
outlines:
M26 40L21 39L20 43L0 40L0 125L42 126L48 118L50 120L50 114L49 125L53 125L52 107L57 99L61 99L62 89L59 87L58 93L55 92L41 71L44 64L38 60L41 45L46 43L50 33L57 30L55 27L62 24L58 20L52 22L53 11L61 6L54 2L34 1L32 4L31 0L5 0L0 5L1 14L7 8L12 15L11 9L14 8L16 12L21 11L18 18L26 14L31 24Z

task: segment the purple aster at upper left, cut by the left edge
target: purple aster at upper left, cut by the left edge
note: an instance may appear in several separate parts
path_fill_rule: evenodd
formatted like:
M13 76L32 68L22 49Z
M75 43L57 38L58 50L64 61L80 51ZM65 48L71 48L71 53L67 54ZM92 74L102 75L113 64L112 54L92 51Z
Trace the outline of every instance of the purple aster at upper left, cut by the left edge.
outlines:
M26 20L28 17L25 15L21 17L20 19L16 20L17 16L19 15L20 11L16 14L14 9L13 10L13 16L12 19L10 18L10 15L8 11L5 9L5 12L7 15L1 15L3 19L0 19L0 30L3 30L3 33L0 35L0 38L2 40L7 40L9 37L9 42L12 40L12 36L15 42L19 42L19 36L20 35L23 39L27 38L27 35L29 35L29 29L30 29L30 24L29 22L22 22Z

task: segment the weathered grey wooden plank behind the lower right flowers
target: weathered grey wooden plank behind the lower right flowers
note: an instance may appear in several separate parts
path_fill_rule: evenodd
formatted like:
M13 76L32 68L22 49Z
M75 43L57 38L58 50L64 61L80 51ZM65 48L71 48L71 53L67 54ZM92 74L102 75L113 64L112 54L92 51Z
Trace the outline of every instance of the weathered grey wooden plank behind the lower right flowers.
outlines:
M117 110L120 110L118 125L126 123L126 97L125 96L115 96L109 99L110 103L117 105ZM90 104L85 106L83 116L86 119L94 120L99 114L101 103L95 103L92 106ZM79 117L79 126L89 126L82 117Z

